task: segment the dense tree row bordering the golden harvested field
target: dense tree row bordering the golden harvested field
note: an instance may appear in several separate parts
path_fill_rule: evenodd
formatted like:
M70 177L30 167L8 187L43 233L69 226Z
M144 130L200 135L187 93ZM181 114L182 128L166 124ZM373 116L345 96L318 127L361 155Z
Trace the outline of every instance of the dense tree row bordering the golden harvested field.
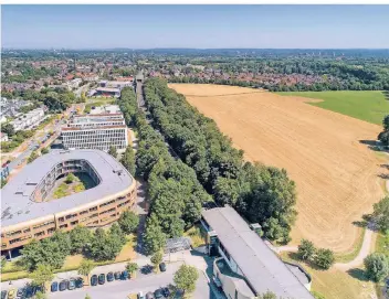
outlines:
M148 79L145 96L155 127L214 200L234 206L249 222L260 223L266 237L287 242L296 217L296 192L286 171L244 162L243 151L232 147L214 121L165 81Z

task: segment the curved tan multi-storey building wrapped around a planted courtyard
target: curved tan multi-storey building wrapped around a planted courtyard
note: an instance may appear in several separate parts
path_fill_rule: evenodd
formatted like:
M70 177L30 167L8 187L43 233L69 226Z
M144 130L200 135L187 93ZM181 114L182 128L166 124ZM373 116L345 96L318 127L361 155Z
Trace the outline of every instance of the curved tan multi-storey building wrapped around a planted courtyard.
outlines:
M57 200L50 192L69 173L84 173L95 186ZM104 226L134 209L136 182L108 153L52 150L28 164L1 190L1 252L71 231L82 224Z

